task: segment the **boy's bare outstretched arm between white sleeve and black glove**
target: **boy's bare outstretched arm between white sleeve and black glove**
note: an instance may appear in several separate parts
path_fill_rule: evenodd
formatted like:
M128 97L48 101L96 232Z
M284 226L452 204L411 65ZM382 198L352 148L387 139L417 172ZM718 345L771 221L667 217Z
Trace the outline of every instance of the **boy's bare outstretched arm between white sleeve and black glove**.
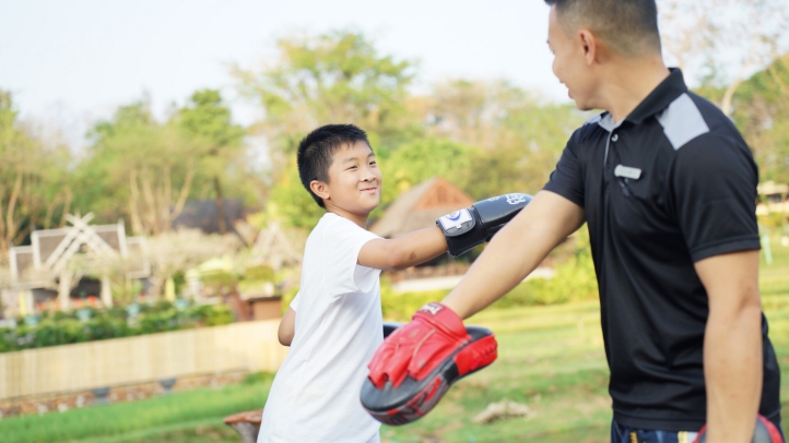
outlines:
M358 264L399 271L447 252L447 240L438 227L420 229L394 239L370 240L358 251Z

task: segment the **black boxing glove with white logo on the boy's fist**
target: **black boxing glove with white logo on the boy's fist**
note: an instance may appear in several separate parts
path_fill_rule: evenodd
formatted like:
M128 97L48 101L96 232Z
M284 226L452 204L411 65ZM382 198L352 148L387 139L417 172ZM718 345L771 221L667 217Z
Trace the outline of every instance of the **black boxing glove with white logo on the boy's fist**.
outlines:
M452 256L491 241L520 209L531 202L531 195L505 194L476 202L471 207L447 214L436 220L444 232Z

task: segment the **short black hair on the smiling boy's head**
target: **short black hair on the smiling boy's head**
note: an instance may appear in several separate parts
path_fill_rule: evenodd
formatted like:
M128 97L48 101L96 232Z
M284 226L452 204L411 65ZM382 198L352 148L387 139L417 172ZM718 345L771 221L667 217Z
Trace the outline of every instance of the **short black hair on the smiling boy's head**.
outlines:
M298 143L296 164L298 177L304 188L313 195L318 206L326 208L323 199L309 189L313 180L329 182L329 166L334 152L342 146L365 142L369 146L367 133L353 124L327 124L310 132ZM372 149L372 147L370 147Z

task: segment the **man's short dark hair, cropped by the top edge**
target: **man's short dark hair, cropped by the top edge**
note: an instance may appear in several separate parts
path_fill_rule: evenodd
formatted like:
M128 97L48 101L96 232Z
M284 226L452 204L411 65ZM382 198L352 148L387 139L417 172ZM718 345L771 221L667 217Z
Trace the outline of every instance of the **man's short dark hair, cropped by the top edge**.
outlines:
M626 57L660 53L655 0L545 0L566 32L588 27Z

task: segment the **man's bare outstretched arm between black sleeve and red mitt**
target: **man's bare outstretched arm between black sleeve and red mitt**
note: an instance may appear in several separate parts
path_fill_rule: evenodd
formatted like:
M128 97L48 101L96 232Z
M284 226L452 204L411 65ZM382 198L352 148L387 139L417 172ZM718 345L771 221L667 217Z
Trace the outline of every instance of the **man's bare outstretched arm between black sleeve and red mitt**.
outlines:
M584 225L584 209L540 191L485 248L443 303L467 319L498 300L542 262L553 248Z

